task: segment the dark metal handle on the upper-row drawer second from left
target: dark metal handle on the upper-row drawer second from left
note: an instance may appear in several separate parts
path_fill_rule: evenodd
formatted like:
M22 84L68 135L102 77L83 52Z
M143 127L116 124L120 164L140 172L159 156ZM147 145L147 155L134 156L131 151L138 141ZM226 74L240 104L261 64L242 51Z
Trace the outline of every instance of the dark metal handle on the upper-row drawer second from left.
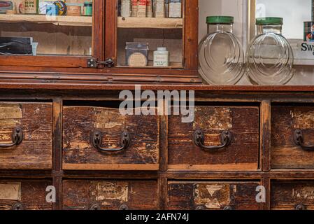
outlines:
M101 132L94 132L92 135L92 145L99 151L104 153L117 153L129 147L131 144L131 137L128 132L123 132L121 134L120 148L101 148L102 145L102 135Z

